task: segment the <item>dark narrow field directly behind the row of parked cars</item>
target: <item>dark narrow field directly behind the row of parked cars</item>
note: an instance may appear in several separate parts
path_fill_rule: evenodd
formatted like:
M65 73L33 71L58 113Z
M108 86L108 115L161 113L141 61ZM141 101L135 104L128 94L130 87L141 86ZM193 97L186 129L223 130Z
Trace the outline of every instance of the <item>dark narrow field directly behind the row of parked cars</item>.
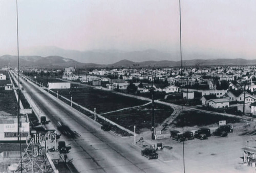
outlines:
M202 111L183 111L173 121L176 127L182 126L205 126L219 123L220 120L226 120L226 123L240 122L239 118L223 116L218 113L205 113Z

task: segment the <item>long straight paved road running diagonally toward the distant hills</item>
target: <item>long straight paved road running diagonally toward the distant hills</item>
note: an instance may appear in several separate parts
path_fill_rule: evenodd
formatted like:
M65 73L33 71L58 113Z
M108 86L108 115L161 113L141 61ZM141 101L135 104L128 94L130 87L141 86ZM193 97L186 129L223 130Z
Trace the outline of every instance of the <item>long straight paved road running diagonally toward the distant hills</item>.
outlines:
M80 137L68 139L61 136L72 149L68 161L79 172L181 172L180 166L158 159L147 160L140 149L133 144L133 138L120 138L112 132L104 132L100 125L38 86L22 78L25 92L29 94L40 110L47 115L53 125L60 119ZM114 105L113 105L114 106ZM182 162L182 161L181 161Z

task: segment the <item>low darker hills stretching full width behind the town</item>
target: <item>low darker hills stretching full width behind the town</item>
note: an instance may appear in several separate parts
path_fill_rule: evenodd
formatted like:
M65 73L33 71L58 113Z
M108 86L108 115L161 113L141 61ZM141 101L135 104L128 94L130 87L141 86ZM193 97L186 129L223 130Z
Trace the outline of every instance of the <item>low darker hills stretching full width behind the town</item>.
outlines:
M134 62L121 60L113 64L81 63L70 58L60 56L19 56L19 65L23 68L63 68L76 66L81 68L105 68L105 67L179 67L180 61L142 61ZM208 59L208 60L183 60L183 66L211 66L211 65L256 65L255 60L246 59ZM0 66L17 67L17 56L4 55L0 57Z

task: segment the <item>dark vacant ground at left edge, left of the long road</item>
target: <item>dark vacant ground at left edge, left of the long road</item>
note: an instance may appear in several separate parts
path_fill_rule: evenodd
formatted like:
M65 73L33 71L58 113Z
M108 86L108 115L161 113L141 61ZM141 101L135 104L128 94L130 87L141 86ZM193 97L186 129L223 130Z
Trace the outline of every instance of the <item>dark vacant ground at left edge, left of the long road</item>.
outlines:
M17 101L13 90L0 90L0 110L17 114Z

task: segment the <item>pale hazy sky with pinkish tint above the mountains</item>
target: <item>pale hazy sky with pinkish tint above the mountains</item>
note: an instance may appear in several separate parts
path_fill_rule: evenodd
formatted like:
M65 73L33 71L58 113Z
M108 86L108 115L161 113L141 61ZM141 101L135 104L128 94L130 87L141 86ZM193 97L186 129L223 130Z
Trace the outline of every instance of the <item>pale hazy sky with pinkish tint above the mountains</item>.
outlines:
M179 52L179 0L18 0L18 17L21 54L48 45ZM184 59L256 57L255 0L181 0L181 18ZM0 55L15 55L15 0L0 0L0 22Z

